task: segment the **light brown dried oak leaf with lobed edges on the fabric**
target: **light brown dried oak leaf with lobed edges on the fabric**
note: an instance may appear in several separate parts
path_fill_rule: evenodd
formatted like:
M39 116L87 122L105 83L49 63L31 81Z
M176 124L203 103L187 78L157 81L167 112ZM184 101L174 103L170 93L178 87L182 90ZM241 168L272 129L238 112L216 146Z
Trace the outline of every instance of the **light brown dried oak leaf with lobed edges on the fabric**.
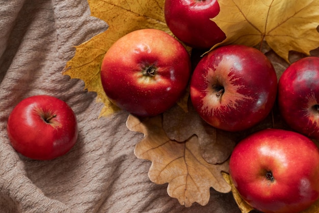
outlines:
M168 183L168 195L177 198L181 205L206 205L210 187L221 193L230 192L231 187L221 173L228 171L228 162L208 164L201 156L196 136L182 143L170 140L162 128L162 116L140 120L129 115L126 126L144 134L134 153L152 162L149 179L156 184Z

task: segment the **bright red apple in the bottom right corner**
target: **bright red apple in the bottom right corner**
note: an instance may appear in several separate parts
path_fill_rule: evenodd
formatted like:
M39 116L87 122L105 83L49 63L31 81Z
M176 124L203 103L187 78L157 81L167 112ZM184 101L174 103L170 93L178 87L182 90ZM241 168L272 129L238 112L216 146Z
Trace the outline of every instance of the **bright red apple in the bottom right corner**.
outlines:
M229 172L242 198L265 213L300 212L318 199L318 148L294 131L248 136L234 148Z

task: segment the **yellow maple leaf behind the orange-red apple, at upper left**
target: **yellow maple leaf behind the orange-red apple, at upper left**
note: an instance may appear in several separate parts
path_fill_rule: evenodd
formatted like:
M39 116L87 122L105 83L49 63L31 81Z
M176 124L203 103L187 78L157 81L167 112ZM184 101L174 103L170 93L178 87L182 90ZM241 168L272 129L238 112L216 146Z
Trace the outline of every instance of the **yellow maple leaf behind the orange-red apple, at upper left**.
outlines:
M119 108L109 101L101 85L100 68L105 52L119 38L135 30L154 28L171 33L164 18L164 0L88 0L88 3L91 15L107 22L108 30L75 46L75 55L62 73L82 79L88 91L96 92L97 100L104 103L100 116L108 116Z

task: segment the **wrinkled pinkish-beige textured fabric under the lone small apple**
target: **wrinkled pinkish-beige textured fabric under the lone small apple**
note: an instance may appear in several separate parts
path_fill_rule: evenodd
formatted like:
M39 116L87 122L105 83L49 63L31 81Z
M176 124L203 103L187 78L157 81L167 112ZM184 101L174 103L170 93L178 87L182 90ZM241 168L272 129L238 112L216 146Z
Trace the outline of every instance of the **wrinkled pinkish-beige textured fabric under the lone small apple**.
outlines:
M106 29L86 0L0 0L0 212L240 212L230 193L212 189L206 206L170 198L134 155L143 136L126 128L128 114L97 119L95 93L61 74L73 46ZM39 94L66 101L78 120L76 145L52 161L17 154L7 137L13 107Z

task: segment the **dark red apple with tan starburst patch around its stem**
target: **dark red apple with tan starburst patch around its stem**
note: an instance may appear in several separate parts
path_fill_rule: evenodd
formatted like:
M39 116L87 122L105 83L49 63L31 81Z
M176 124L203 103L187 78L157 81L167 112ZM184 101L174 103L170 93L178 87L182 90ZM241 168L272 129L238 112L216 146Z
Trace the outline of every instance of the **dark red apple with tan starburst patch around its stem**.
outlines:
M277 95L277 76L259 50L226 45L200 60L192 75L190 94L196 111L207 123L240 131L271 112Z

